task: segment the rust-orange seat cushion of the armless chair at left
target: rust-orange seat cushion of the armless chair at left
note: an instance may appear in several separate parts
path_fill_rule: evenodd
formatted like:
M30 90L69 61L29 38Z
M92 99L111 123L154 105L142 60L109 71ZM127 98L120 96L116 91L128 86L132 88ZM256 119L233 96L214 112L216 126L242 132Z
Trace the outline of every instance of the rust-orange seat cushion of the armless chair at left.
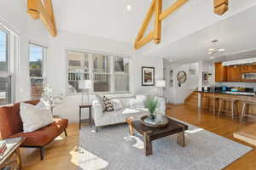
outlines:
M44 146L59 136L67 128L67 119L55 119L47 127L42 127L32 133L15 133L9 138L26 137L21 146Z

